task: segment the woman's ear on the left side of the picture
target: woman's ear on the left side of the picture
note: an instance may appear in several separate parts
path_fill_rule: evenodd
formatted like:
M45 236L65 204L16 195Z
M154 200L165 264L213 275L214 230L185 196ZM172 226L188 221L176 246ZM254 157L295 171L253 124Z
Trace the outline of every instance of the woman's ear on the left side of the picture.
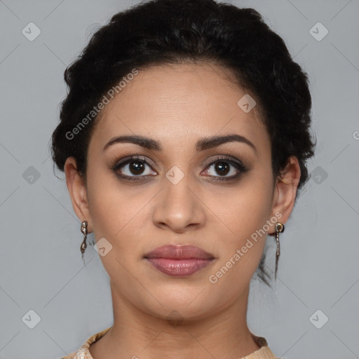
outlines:
M72 207L81 220L88 222L88 233L92 232L92 220L90 216L90 210L88 205L86 184L83 181L83 177L77 172L76 159L74 157L68 157L64 171L66 175L67 189L72 201Z

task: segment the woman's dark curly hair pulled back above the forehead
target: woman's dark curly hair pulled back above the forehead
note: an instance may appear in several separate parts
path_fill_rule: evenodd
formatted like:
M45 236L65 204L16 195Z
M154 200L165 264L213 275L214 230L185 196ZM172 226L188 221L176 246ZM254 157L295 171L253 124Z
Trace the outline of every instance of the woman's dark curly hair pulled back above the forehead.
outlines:
M298 158L297 199L309 178L306 160L316 146L309 133L308 76L257 11L214 0L142 2L116 13L93 34L65 70L69 92L51 147L57 168L63 171L66 159L74 156L86 182L88 144L100 117L93 115L93 121L86 121L82 128L79 123L126 74L151 65L199 61L229 69L233 81L255 98L271 137L273 178L280 175L290 156ZM72 138L69 133L75 133L76 126L79 130ZM265 257L266 251L257 276L269 285Z

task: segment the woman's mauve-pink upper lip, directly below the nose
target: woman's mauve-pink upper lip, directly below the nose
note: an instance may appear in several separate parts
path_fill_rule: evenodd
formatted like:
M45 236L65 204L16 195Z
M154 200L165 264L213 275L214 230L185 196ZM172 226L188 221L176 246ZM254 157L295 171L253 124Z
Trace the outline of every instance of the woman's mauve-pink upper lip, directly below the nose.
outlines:
M213 255L196 245L163 245L148 252L144 258L214 259Z

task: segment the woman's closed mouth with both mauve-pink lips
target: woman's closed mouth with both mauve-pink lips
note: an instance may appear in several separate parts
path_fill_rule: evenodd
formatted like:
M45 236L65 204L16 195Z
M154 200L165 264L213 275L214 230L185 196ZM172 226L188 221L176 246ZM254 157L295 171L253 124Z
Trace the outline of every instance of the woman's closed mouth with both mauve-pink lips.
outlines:
M213 255L194 245L163 245L144 255L154 268L168 276L191 276L209 266Z

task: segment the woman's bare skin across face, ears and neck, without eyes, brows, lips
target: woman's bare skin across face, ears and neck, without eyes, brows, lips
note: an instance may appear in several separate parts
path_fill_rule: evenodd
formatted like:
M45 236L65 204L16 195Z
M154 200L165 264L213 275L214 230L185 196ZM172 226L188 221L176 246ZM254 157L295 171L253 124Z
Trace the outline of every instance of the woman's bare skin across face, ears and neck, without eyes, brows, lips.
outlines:
M217 283L208 278L276 213L285 224L300 169L297 158L291 157L283 177L273 180L269 134L257 107L248 113L238 107L245 91L228 74L208 63L139 69L102 110L88 147L87 186L75 159L67 158L67 187L76 215L88 221L95 241L106 238L112 245L100 258L110 278L114 325L90 346L94 359L236 359L259 349L246 313L250 279L266 236L259 237ZM200 152L194 147L200 137L228 133L246 137L256 151L243 142ZM163 151L131 143L103 151L118 135L151 137ZM144 165L147 179L126 182L111 170L128 157L126 152L156 165ZM231 163L225 175L210 165L222 155L242 161L248 170L233 181L213 181L238 173ZM177 184L165 177L172 166L184 174ZM136 176L129 165L117 172ZM269 223L267 232L275 233L276 222ZM170 243L197 245L215 259L191 276L165 275L143 256Z

